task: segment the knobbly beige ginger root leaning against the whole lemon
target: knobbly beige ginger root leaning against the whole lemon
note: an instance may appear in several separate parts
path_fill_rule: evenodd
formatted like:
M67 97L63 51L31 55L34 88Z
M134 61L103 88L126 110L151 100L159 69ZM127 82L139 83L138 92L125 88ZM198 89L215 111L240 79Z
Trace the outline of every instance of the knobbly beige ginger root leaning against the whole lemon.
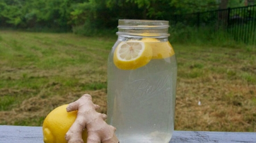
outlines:
M92 96L84 94L77 101L69 103L67 111L77 111L77 118L66 133L68 143L84 143L82 131L87 129L87 143L118 143L115 128L105 122L106 114L96 110L100 106L92 102Z

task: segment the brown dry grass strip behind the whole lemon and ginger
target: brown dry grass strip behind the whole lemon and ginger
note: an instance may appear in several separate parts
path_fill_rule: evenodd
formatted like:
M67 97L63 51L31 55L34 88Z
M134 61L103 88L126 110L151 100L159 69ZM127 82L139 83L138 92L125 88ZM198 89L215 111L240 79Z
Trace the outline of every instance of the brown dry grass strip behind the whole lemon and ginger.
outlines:
M84 92L69 92L64 95L56 95L43 98L40 94L25 99L9 111L0 112L0 121L4 124L14 125L42 125L42 120L57 106L71 103L79 99L82 94L88 93L93 97L93 102L101 106L99 112L106 114L106 90L86 90Z

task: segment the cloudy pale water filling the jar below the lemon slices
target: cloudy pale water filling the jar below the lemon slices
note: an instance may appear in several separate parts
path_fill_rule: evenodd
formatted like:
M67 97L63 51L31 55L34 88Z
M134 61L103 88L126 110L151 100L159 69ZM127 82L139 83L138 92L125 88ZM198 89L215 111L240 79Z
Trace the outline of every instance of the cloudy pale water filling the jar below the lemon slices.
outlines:
M113 62L120 42L113 46L108 61L107 122L117 128L115 135L121 143L167 143L174 131L175 54L152 58L134 70L122 70Z

